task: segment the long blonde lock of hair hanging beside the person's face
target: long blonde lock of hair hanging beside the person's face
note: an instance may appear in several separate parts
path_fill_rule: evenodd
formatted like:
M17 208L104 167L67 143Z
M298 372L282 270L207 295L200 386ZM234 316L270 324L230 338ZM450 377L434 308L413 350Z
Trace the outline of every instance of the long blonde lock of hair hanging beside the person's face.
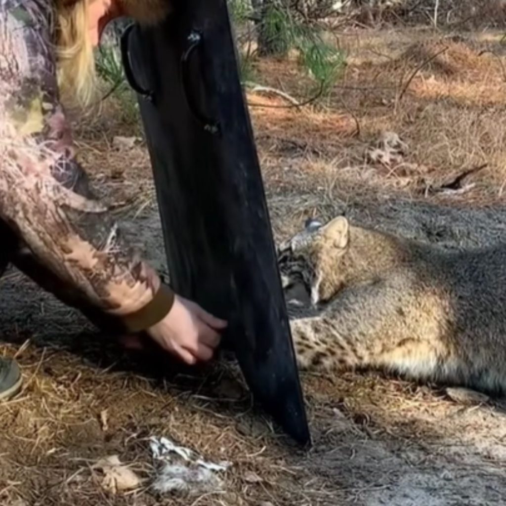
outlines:
M62 100L85 109L95 98L97 74L89 32L89 5L95 0L74 3L56 0L56 46L58 84Z

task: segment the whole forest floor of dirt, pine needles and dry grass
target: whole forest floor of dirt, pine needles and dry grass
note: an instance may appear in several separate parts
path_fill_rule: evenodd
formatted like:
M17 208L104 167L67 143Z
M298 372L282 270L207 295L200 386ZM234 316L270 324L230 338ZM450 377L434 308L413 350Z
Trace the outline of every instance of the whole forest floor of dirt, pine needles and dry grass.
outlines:
M338 35L348 67L324 105L286 108L280 96L248 95L276 238L309 216L346 213L444 247L503 240L501 35ZM293 97L308 86L295 62L259 62L256 72ZM377 144L384 130L407 147ZM105 107L101 119L80 125L77 140L125 233L163 271L146 148L113 147L114 136L137 132ZM444 389L374 371L305 373L314 445L302 451L251 407L232 363L195 371L157 355L148 362L20 273L0 283L0 353L16 356L25 379L21 394L0 404L2 506L506 504L501 399L468 405ZM154 492L151 436L230 461L222 489ZM139 487L104 490L94 464L114 454L143 478Z

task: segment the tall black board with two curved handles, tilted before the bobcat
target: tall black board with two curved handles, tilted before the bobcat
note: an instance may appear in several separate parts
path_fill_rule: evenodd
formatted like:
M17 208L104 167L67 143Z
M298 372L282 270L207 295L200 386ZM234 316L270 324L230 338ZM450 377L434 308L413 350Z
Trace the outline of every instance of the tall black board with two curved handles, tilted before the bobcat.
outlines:
M171 284L229 321L254 398L310 443L255 141L226 0L175 2L131 25L123 64L138 93Z

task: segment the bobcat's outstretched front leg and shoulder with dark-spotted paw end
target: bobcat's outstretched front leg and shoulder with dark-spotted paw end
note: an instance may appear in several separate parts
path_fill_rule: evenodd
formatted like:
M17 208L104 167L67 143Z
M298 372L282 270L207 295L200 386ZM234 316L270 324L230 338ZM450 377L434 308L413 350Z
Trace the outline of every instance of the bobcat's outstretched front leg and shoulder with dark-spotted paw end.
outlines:
M347 288L320 316L292 320L299 367L381 367L433 376L444 355L445 315L432 290L401 274Z

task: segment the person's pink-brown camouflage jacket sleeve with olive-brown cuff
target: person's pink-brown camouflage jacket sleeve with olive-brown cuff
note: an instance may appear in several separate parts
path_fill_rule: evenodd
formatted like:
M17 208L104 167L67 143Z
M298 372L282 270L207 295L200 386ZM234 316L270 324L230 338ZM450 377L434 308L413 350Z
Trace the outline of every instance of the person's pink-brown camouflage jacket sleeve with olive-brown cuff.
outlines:
M44 4L0 0L0 219L62 284L141 330L173 296L122 241L76 161Z

